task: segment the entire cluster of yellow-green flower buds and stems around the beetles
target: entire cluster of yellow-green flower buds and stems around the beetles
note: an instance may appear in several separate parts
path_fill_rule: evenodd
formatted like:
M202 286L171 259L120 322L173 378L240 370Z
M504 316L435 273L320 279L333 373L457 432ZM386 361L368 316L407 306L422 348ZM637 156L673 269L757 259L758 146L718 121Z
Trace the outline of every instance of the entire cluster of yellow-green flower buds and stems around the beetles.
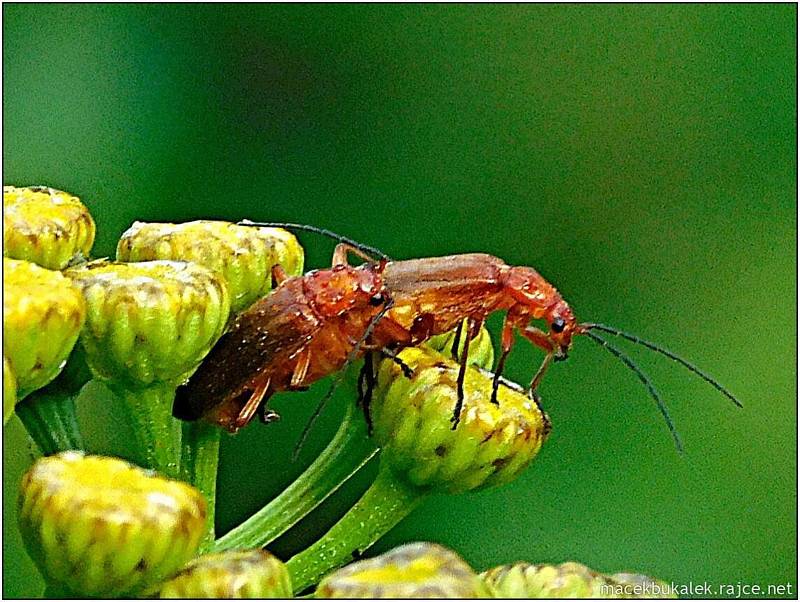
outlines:
M161 473L79 451L34 464L22 482L19 524L51 595L280 598L323 577L315 591L323 598L664 595L662 582L602 575L576 563L517 563L478 575L454 552L428 543L331 573L429 494L507 483L538 454L550 421L521 387L502 379L499 403L492 403L487 370L494 349L485 328L470 344L463 387L452 358L465 341L459 337L457 345L453 333L379 365L370 408L374 444L381 448L378 477L318 542L284 565L259 549L265 542L250 532L275 516L267 512L227 539L255 543L200 555L213 543L219 431L202 423L182 427L171 415L175 387L196 369L231 314L269 293L275 265L289 276L302 273L302 248L276 228L136 222L122 235L116 261L89 261L95 225L79 199L45 187L3 192L4 420L16 407L48 453L80 447L77 435L48 444L45 431L74 422L73 393L88 378L79 368L88 364L124 401L142 464ZM65 364L70 369L61 372ZM55 387L56 377L74 382ZM48 395L50 414L42 409ZM341 454L323 454L293 490L291 499L312 501L301 504L302 513L290 512L292 520L374 453L374 445L371 451L363 446L363 432L350 427L352 415L350 409L335 441L354 450L360 445L366 455L352 470L336 470L331 463ZM267 530L276 536L289 526Z

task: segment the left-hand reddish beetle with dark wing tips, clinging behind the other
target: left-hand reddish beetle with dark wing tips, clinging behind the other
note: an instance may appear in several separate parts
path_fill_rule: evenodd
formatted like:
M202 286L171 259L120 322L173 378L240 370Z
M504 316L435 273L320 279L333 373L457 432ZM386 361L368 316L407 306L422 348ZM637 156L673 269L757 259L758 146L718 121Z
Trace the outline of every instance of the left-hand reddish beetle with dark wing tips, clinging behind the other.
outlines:
M266 409L273 393L305 389L340 370L389 297L382 264L336 261L332 269L286 280L274 270L276 289L239 314L178 387L173 414L236 432L256 411L265 422L278 418Z

